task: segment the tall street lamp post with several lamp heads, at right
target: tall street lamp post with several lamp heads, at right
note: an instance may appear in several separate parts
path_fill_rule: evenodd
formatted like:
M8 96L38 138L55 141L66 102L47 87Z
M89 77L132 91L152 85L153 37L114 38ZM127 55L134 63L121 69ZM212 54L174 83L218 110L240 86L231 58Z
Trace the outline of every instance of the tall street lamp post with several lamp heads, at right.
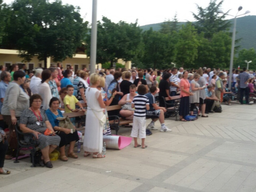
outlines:
M243 9L242 6L240 6L238 8L238 13L239 11L241 11ZM221 13L221 14L225 14L225 15L229 15L227 13L224 13L222 10L218 10L217 13ZM232 34L232 46L231 46L231 55L230 55L230 66L229 66L229 79L228 79L228 89L231 90L231 81L232 81L232 69L233 69L233 59L234 59L234 40L236 39L236 27L237 27L237 17L241 16L241 15L245 15L250 13L250 11L246 11L244 14L238 15L238 13L236 14L236 16L230 15L234 17L234 27L233 27L233 34Z

